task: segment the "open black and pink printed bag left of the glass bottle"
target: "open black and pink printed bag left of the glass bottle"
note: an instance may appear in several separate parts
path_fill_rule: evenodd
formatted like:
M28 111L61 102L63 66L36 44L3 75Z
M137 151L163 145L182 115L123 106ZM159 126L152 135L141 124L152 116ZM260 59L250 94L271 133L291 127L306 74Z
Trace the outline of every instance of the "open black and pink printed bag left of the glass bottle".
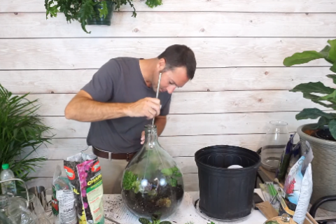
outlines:
M96 155L78 153L64 160L64 169L76 194L80 224L104 224L103 182Z

